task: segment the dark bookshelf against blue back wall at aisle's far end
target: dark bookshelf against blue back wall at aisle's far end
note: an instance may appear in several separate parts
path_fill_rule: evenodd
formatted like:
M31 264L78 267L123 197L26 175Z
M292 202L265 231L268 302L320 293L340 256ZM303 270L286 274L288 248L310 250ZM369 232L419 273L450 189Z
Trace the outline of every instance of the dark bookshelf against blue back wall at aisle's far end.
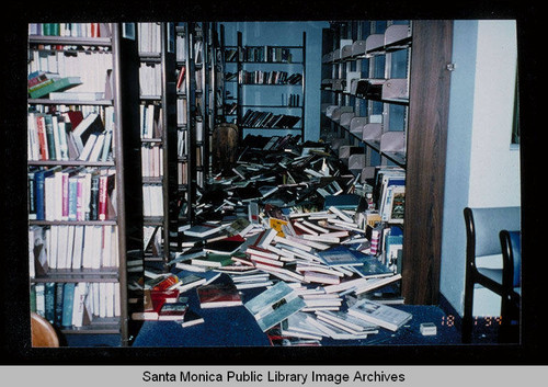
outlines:
M237 45L224 49L227 122L232 117L241 137L275 130L304 140L306 32L300 45L260 46L244 45L238 32Z

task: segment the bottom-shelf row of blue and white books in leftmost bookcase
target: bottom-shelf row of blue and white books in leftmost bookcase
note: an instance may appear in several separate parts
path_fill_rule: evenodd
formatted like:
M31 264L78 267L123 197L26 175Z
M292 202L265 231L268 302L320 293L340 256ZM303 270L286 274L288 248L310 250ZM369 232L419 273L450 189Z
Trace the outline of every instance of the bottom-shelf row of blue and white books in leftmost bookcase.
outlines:
M36 283L31 285L31 310L60 329L78 329L96 318L121 316L115 283Z

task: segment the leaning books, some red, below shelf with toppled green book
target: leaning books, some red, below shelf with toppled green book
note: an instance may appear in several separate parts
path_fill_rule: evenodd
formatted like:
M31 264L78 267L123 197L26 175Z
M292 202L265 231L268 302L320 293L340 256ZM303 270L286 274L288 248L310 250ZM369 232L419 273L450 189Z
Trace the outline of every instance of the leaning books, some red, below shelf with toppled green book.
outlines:
M104 109L85 118L78 111L61 114L28 113L27 146L30 161L109 161L113 159L114 109Z

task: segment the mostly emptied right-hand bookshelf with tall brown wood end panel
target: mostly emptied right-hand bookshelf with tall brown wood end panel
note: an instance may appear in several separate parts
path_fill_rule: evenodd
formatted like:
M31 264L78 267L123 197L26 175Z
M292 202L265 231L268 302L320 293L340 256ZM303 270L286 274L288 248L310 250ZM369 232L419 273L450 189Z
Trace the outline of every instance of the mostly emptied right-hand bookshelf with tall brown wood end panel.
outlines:
M322 137L363 182L383 168L404 175L408 304L438 297L450 33L446 21L339 22L323 32Z

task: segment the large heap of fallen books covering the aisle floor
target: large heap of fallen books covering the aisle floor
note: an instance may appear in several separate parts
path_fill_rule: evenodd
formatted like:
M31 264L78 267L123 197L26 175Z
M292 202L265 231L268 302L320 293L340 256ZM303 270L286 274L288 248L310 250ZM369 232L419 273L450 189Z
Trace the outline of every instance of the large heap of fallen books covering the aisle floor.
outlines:
M146 271L146 282L171 278L165 291L180 297L195 289L202 308L244 305L273 343L397 330L411 318L388 305L403 303L400 266L379 253L363 185L321 143L253 138L201 192L171 272ZM221 273L230 284L215 282ZM258 295L242 303L248 289Z

